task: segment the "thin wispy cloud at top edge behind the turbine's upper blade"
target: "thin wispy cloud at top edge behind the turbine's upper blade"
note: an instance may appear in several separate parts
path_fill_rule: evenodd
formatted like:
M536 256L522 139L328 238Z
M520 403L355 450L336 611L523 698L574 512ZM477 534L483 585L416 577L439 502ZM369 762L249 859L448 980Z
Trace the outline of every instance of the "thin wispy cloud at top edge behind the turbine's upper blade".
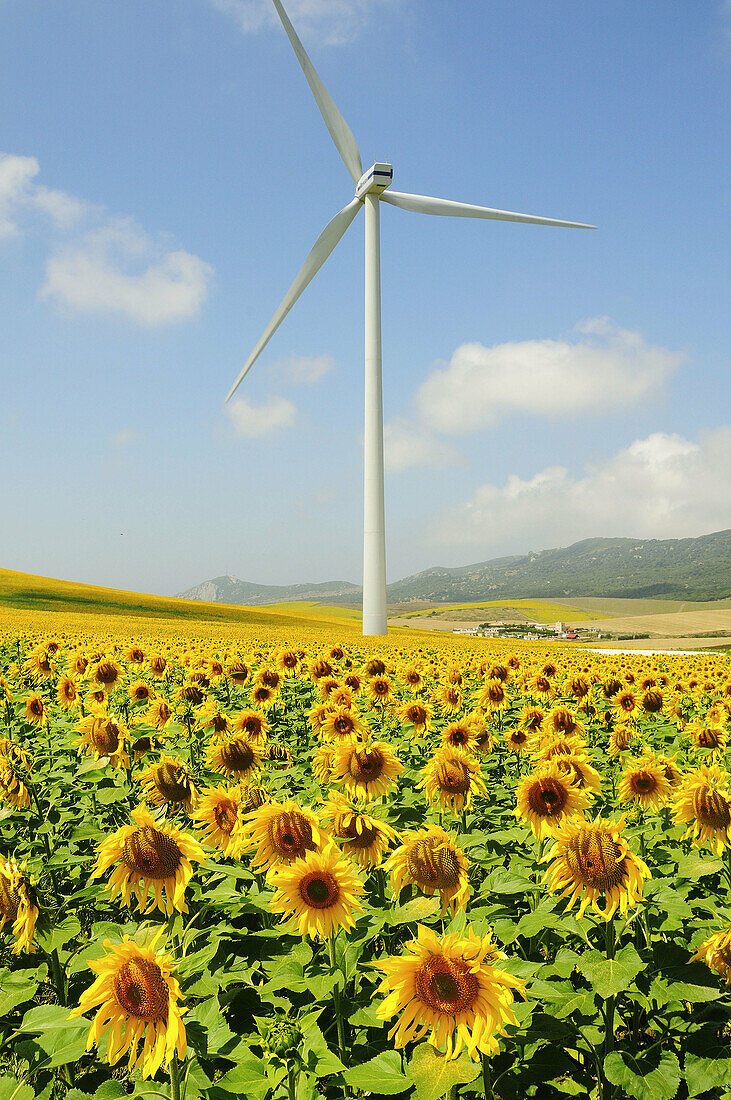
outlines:
M281 26L272 0L210 0L235 20L244 34ZM287 14L298 34L324 45L350 42L370 22L375 9L394 0L287 0Z

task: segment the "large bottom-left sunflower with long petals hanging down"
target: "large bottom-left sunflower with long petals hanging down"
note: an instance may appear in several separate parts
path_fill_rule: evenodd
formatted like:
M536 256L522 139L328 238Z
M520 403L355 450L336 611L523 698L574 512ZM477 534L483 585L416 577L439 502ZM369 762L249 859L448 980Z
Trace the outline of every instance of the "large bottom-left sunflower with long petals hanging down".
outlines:
M160 932L146 947L128 935L121 944L104 939L107 955L89 966L98 975L81 994L69 1019L99 1009L89 1030L87 1050L101 1047L106 1032L110 1066L128 1054L130 1071L141 1069L143 1080L169 1065L177 1053L186 1056L186 1028L178 1005L180 987L173 977L175 960L156 952ZM140 1043L143 1043L139 1050ZM129 1052L129 1053L128 1053Z

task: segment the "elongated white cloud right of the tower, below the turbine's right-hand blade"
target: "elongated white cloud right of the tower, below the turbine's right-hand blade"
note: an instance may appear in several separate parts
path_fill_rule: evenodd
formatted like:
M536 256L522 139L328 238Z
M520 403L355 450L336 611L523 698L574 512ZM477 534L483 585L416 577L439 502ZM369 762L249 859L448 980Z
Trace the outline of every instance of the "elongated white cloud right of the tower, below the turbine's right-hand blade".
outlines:
M607 318L585 321L577 332L574 341L462 344L419 387L420 417L438 431L462 435L516 413L608 413L651 397L686 358Z

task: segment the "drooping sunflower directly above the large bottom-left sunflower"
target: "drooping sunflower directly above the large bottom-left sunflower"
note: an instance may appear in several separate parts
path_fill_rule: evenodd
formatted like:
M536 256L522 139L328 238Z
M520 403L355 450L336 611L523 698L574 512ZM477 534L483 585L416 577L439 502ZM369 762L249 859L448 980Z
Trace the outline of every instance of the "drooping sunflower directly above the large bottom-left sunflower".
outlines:
M108 883L112 898L121 893L130 904L134 891L140 913L155 906L168 916L174 910L187 913L184 895L192 876L191 860L204 859L203 849L181 829L157 826L144 806L133 810L132 820L134 824L123 825L99 845L91 878L98 879L119 860ZM147 902L151 887L155 895Z

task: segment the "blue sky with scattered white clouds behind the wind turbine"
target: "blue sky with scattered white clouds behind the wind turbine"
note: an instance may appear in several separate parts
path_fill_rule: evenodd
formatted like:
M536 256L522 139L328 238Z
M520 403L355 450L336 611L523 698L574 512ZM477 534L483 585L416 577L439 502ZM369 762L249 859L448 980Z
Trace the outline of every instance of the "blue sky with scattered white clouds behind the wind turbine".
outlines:
M395 189L599 227L383 208L389 580L731 526L731 6L287 7ZM0 0L0 564L357 581L362 218L223 407L353 193L270 0Z

